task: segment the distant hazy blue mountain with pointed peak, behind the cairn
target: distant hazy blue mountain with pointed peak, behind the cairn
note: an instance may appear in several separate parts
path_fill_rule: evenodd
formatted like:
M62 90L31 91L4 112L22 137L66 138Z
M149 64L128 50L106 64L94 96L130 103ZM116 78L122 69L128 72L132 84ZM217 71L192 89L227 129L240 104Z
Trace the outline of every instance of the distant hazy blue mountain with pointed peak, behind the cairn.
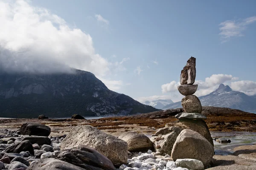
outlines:
M233 91L228 85L219 87L206 96L198 97L202 106L214 106L223 108L239 109L241 111L256 112L256 97L248 96L239 91ZM181 102L165 106L163 109L180 108Z

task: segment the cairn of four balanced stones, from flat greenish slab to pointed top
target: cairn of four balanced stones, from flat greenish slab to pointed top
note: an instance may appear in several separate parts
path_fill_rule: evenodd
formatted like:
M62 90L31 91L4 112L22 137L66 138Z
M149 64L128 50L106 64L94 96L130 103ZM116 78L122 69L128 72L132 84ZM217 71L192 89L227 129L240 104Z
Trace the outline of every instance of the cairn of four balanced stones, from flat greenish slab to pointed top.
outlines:
M181 100L184 113L179 113L177 119L207 119L202 113L202 105L197 96L193 95L198 85L195 83L195 57L191 57L180 74L180 85L178 91L185 97Z

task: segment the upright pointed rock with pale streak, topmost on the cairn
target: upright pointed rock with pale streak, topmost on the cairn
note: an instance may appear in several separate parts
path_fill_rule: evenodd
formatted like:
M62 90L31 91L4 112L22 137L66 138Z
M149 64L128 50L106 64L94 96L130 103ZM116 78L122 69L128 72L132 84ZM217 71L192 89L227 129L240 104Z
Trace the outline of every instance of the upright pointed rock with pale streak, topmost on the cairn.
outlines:
M180 74L181 85L192 85L195 82L195 57L190 57Z

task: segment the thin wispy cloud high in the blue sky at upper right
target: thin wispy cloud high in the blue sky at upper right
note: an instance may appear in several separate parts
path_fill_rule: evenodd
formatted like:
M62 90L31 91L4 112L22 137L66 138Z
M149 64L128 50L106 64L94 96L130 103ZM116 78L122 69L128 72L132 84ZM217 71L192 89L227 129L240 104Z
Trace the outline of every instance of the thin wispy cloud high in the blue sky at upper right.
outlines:
M222 42L227 42L232 37L241 37L243 36L242 32L246 27L256 22L256 16L248 17L244 20L237 21L237 20L227 20L223 23L220 23L220 33Z

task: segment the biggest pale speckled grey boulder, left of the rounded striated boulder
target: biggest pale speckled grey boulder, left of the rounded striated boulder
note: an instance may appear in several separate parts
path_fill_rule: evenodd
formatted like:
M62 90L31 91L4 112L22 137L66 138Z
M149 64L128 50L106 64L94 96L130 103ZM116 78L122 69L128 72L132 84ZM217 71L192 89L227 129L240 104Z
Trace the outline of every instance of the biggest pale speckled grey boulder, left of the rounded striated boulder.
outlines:
M98 150L117 167L127 162L128 144L122 139L108 135L90 125L73 127L67 137L63 139L60 147L61 150L64 150L78 147L79 144L86 144Z

